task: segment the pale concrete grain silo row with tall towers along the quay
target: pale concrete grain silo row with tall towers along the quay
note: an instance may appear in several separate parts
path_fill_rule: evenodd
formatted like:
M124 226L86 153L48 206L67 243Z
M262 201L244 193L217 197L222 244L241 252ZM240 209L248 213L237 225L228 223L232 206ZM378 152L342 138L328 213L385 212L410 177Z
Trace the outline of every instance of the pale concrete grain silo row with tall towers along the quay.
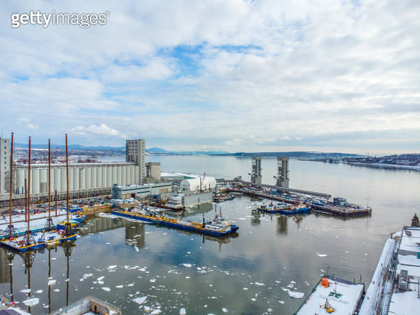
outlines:
M10 173L10 141L0 139L0 203L8 200ZM12 191L14 198L21 199L25 193L27 165L17 164L13 170ZM108 195L114 184L119 186L159 182L161 164L145 163L145 141L126 141L126 162L69 163L70 198ZM65 198L67 172L64 163L51 164L51 194L57 191L58 199ZM31 165L30 193L32 202L45 200L48 196L48 165Z

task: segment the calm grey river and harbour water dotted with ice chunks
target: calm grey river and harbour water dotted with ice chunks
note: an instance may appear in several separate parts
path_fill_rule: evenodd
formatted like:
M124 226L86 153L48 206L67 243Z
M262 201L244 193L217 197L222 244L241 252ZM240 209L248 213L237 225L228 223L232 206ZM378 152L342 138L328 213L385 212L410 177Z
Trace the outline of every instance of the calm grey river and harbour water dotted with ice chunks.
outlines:
M161 162L165 172L244 179L251 165L250 159L233 156L148 156L148 161ZM264 183L274 183L276 160L263 159L262 167ZM292 159L290 187L369 202L373 213L349 220L314 213L256 215L259 201L237 196L220 204L240 226L237 235L226 238L93 218L73 248L33 257L0 249L0 292L8 296L12 290L20 302L38 297L38 305L30 308L34 314L86 295L121 305L124 314L141 314L148 307L163 314L179 314L181 308L187 314L292 314L304 298L292 299L287 290L307 296L327 268L336 277L361 277L369 285L386 238L420 213L420 172ZM184 216L211 218L214 207L200 205ZM24 259L31 265L30 258L32 266L25 268ZM49 277L54 285L47 285ZM28 281L32 291L21 292ZM143 296L143 304L134 301Z

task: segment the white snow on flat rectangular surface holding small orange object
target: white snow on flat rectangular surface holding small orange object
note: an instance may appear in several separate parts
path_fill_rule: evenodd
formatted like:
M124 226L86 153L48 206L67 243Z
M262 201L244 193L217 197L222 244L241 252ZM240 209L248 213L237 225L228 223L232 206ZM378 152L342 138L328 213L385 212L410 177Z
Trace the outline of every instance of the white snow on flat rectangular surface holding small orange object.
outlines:
M363 288L364 285L362 284L353 284L347 281L340 281L338 279L329 279L328 288L324 288L323 285L318 283L316 290L307 299L305 304L303 304L303 306L301 307L299 312L297 312L297 314L327 314L327 312L322 307L320 307L320 305L325 305L325 299L327 298L329 304L335 310L333 313L334 315L353 314L358 305L358 301L363 292ZM331 292L334 293L335 289L338 294L342 295L339 297L337 297L336 295L329 296Z

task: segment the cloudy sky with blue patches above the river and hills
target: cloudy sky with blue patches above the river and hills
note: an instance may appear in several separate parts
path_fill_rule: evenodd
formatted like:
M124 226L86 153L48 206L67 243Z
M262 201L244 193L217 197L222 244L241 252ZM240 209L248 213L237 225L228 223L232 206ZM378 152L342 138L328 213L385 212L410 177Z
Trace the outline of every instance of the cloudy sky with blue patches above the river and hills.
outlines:
M13 13L107 12L105 25ZM420 1L2 1L0 132L166 150L420 152Z

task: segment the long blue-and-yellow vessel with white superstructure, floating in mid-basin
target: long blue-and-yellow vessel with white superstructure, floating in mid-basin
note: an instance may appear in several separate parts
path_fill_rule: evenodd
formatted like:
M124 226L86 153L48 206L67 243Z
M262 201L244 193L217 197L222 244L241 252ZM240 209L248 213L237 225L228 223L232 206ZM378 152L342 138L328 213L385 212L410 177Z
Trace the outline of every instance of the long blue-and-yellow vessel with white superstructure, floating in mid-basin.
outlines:
M123 211L121 209L114 208L112 213L124 218L151 222L163 226L170 226L175 229L195 231L208 235L222 236L234 233L237 229L239 229L237 225L224 220L222 215L218 214L215 215L215 218L212 221L205 222L205 218L203 218L202 223L197 223L189 220L178 220L176 218L171 218L168 215L158 215L156 212L149 211L148 209L132 209L131 211Z

